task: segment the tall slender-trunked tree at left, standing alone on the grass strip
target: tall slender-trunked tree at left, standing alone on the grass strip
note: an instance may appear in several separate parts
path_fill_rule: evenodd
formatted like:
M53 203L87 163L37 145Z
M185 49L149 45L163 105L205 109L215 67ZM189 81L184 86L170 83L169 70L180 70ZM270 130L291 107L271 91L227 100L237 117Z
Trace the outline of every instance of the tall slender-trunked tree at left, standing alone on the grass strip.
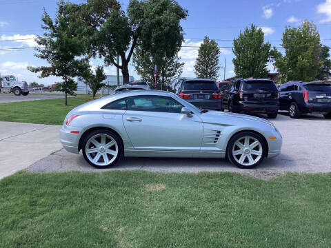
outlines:
M88 58L82 57L86 53L83 37L79 35L81 25L75 21L77 18L77 6L57 3L58 10L54 21L44 10L41 28L45 30L43 37L37 37L40 46L36 50L40 59L46 59L49 66L39 68L28 67L31 72L41 72L41 78L48 76L60 76L63 81L57 85L57 89L65 93L65 105L68 105L67 94L74 95L77 83L74 77L88 70Z

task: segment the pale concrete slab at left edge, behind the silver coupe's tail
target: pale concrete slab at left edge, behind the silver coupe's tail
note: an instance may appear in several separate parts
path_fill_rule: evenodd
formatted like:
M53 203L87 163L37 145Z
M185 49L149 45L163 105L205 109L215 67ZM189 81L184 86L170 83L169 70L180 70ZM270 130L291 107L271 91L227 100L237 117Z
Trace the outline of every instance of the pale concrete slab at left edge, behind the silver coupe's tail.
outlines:
M0 179L61 149L60 128L0 121Z

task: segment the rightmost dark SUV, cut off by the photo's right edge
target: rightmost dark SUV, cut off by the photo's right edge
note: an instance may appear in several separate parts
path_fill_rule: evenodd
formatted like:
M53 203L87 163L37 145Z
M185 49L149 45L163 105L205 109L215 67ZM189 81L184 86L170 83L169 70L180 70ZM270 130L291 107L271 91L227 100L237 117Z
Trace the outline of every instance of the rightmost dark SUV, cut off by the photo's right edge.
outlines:
M301 114L323 114L331 118L331 84L321 82L288 82L280 87L280 109L290 112L290 117Z

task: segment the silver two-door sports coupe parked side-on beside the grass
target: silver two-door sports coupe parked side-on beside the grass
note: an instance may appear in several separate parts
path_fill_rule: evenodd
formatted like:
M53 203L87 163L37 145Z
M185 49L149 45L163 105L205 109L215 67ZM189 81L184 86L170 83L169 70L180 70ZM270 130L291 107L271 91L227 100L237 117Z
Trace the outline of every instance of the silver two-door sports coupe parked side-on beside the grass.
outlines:
M262 118L200 110L170 92L135 90L74 108L63 147L105 168L122 156L225 158L252 168L281 153L282 137Z

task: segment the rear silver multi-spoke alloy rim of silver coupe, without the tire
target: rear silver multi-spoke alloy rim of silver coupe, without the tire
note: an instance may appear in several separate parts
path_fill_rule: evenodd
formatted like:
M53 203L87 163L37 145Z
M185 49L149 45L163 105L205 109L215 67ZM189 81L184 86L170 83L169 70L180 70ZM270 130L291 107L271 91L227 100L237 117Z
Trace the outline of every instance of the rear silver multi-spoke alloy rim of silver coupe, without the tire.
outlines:
M85 152L94 165L107 166L119 156L119 145L108 134L96 134L86 142Z

